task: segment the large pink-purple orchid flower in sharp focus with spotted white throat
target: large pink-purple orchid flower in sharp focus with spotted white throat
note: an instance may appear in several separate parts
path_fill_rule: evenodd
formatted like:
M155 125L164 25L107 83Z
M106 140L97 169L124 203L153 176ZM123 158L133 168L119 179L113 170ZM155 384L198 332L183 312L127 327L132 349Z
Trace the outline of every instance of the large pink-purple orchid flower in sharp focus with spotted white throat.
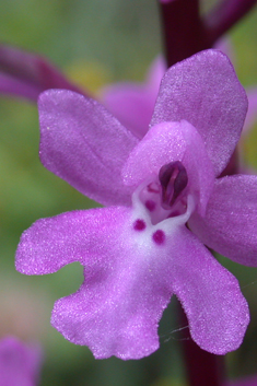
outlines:
M248 306L208 249L257 266L257 177L217 178L247 110L226 56L201 51L170 68L141 140L71 91L44 92L38 108L44 166L107 206L38 220L21 237L22 273L84 267L78 292L56 302L52 326L97 359L140 359L159 348L175 294L200 348L238 348Z

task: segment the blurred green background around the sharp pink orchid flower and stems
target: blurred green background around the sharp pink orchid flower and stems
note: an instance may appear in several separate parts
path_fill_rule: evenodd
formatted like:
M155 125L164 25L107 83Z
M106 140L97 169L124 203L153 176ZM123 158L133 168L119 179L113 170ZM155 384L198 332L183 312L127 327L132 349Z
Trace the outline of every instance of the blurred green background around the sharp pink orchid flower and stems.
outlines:
M213 1L206 1L208 8ZM246 87L257 85L257 9L230 34L233 61ZM154 0L10 0L0 2L0 40L48 57L78 84L97 91L119 80L142 81L161 52ZM38 218L95 206L46 171L38 160L35 105L0 97L0 336L39 340L45 351L42 386L185 386L175 301L160 326L161 349L141 361L95 361L84 347L50 327L55 300L82 282L78 264L44 277L14 270L21 233ZM242 147L246 165L257 169L257 130ZM257 226L257 224L256 224ZM230 376L257 373L257 269L222 258L238 278L252 313L241 349L226 356Z

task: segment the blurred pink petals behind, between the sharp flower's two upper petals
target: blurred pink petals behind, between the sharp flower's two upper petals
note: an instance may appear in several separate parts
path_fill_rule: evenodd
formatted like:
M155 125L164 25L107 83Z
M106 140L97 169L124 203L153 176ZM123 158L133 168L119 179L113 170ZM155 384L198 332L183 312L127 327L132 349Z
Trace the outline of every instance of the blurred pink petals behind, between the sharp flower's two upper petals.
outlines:
M152 63L145 83L117 83L102 92L103 104L138 138L143 138L149 129L164 72L164 60L159 57Z

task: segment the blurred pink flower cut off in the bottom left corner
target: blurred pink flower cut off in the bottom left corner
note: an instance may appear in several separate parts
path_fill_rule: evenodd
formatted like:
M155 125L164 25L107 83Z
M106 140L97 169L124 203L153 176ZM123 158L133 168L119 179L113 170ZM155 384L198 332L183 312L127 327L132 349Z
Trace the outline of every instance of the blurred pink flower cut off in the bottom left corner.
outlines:
M38 347L25 344L15 337L0 340L1 386L36 386L40 363Z

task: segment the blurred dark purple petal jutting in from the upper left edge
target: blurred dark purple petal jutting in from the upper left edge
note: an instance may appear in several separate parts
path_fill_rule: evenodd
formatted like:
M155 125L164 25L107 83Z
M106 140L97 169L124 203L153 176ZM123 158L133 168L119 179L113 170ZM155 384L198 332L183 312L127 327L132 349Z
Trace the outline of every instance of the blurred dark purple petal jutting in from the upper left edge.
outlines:
M82 93L43 57L0 45L0 93L36 102L39 93L48 89L67 89Z

